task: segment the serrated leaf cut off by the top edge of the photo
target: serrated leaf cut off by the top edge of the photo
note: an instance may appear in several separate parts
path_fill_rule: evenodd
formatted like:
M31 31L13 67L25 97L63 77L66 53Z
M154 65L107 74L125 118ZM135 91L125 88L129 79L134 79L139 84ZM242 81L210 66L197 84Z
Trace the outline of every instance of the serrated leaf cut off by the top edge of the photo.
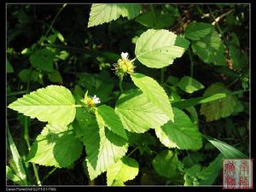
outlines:
M131 20L139 14L140 9L141 5L139 4L93 3L90 9L88 27L117 20L120 16Z

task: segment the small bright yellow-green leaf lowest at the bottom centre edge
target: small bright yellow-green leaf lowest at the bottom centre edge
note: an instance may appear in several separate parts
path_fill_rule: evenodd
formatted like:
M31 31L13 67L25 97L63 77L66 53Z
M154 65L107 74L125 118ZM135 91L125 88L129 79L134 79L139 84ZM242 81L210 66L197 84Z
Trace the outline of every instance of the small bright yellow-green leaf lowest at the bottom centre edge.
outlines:
M126 181L134 179L138 172L137 160L123 157L108 168L107 183L109 185L124 185Z

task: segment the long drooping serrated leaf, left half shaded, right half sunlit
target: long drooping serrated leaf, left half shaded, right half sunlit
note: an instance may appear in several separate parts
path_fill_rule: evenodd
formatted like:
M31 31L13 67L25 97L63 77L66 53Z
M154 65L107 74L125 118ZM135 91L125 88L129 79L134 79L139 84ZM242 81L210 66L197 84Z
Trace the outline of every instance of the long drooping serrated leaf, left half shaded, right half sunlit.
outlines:
M84 144L90 180L106 172L125 155L128 149L128 142L105 128L102 118L97 117L96 121L92 120L90 125L84 126Z

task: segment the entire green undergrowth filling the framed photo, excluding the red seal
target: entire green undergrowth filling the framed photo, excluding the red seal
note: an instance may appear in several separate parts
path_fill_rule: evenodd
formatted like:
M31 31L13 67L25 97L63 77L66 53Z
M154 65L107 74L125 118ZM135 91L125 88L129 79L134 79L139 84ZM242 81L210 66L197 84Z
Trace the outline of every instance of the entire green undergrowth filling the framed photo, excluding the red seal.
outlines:
M8 4L7 183L221 185L249 153L248 4Z

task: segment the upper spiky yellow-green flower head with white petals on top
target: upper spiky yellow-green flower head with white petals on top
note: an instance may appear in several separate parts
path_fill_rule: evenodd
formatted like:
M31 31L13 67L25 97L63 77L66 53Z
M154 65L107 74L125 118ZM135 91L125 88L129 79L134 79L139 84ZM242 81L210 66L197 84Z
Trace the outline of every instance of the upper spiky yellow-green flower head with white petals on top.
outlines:
M117 61L114 66L114 71L119 77L123 77L125 74L134 73L134 65L132 61L128 59L128 53L121 53L121 59Z

